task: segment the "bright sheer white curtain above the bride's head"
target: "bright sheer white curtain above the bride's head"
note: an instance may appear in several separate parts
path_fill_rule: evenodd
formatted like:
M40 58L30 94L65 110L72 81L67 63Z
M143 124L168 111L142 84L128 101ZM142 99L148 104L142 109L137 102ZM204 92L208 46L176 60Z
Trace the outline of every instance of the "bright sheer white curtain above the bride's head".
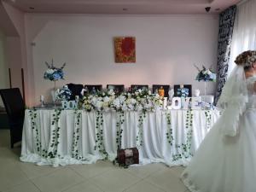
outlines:
M243 1L237 5L230 50L229 75L236 66L234 62L236 56L248 49L256 49L256 0Z

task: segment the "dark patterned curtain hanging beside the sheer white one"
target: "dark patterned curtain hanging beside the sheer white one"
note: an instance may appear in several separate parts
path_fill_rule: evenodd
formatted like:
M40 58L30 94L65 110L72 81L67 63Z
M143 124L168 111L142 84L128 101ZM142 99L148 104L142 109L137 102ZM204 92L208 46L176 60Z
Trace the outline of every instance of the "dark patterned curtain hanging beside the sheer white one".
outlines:
M215 96L215 103L222 92L222 88L227 80L229 61L230 61L230 47L232 41L233 27L236 16L236 5L225 9L219 15L219 29L218 29L218 73L217 73L217 92Z

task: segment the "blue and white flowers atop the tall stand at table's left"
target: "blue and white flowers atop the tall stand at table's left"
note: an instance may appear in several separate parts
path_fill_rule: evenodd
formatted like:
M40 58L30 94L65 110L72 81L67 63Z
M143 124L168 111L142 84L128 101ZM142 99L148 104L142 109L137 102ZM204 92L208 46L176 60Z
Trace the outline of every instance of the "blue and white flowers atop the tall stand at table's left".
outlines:
M48 62L45 62L45 64L48 69L44 73L44 79L49 79L50 81L64 79L63 68L66 66L66 63L64 63L61 68L55 67L53 64L53 60L51 61L51 64L49 64Z

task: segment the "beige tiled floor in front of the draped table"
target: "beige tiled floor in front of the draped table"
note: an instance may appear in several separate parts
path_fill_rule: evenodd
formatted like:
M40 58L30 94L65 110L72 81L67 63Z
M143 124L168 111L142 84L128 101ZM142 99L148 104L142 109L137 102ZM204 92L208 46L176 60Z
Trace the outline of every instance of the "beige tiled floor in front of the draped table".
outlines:
M36 166L9 148L9 131L0 130L0 192L187 192L179 180L183 167L163 164L128 169L108 161L94 165Z

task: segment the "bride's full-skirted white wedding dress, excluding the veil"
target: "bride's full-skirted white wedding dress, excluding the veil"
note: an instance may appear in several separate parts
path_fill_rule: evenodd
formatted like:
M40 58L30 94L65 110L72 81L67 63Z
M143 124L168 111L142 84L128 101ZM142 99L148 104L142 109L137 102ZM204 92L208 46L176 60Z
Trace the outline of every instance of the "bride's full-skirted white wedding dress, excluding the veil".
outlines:
M245 80L247 103L236 136L223 135L222 125L217 122L183 171L181 179L190 191L256 192L255 81L255 77Z

